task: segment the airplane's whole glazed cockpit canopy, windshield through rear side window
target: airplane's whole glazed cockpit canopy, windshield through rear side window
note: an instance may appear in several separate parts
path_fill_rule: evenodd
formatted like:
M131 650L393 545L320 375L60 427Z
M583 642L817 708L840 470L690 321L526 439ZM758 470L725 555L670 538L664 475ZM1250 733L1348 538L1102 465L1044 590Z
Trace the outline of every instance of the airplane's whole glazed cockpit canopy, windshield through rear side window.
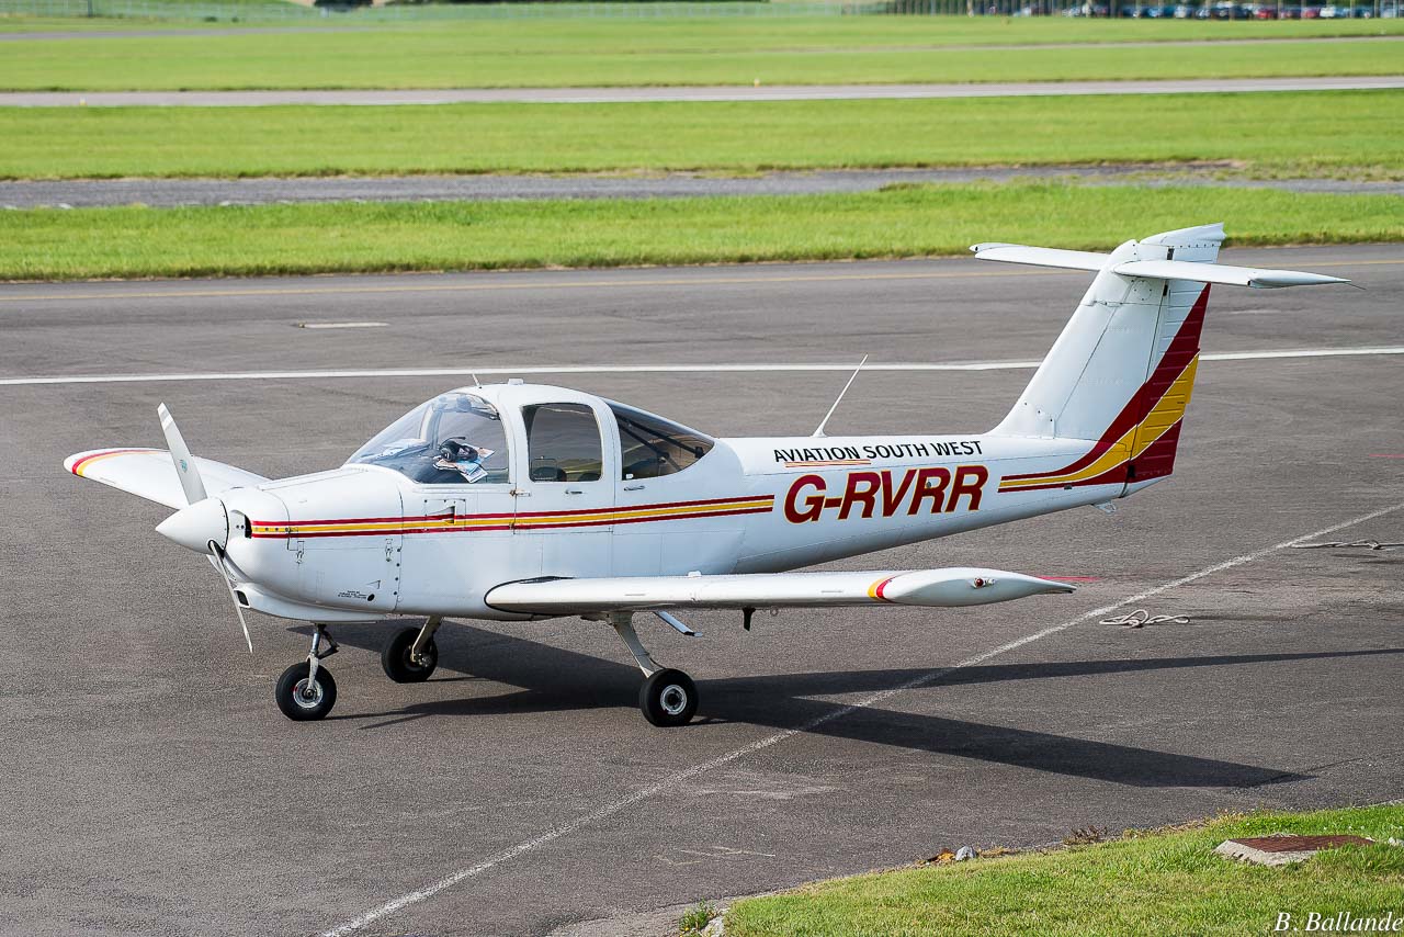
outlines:
M612 480L605 475L607 452L611 462L618 452L618 479L629 480L681 472L715 445L696 430L598 398L597 405L510 406L508 424L486 396L441 393L378 433L347 464L380 465L427 485L507 483L512 476L510 440L525 438L531 482L576 483ZM514 433L518 426L519 434Z

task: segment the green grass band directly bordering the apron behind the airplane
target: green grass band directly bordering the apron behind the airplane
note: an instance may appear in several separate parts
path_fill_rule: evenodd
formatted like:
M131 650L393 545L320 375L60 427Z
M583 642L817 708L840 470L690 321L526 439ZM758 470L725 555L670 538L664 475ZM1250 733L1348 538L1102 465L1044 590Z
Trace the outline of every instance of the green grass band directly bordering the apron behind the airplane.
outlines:
M1238 244L1404 240L1404 197L1063 184L861 195L0 212L0 278L611 267L1111 247L1224 221Z

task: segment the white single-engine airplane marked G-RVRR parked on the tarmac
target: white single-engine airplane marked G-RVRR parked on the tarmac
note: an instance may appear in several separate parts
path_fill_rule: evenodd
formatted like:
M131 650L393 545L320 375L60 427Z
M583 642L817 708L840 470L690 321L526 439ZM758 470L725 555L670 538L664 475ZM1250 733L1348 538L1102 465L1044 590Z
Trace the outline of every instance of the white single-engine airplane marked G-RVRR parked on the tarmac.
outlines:
M644 716L682 725L696 686L653 660L636 614L692 635L674 612L740 610L750 628L760 608L955 607L1071 591L998 569L792 570L1070 507L1108 509L1168 478L1209 284L1348 282L1216 264L1223 236L1221 225L1189 228L1108 254L972 247L980 260L1095 274L1014 409L987 433L826 437L820 424L813 437L712 438L623 403L512 379L414 407L329 472L272 480L192 457L164 405L167 450L94 450L65 466L177 509L156 530L208 555L246 641L246 608L313 624L306 660L277 683L291 719L320 719L336 702L323 663L337 648L330 625L424 617L382 655L392 680L416 683L434 673L445 617L580 615L609 622L628 645L644 674Z

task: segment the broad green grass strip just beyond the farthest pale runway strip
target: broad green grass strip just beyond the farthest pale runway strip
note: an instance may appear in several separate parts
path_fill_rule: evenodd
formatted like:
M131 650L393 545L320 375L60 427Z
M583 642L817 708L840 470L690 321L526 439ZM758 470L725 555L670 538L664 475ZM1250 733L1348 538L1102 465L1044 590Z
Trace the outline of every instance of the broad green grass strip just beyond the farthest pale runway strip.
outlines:
M1140 27L1140 28L1129 28ZM174 90L828 84L1394 74L1400 42L1036 48L1053 42L1404 35L1400 20L1004 25L965 17L472 21L265 35L25 41L0 89ZM1031 48L955 48L969 44ZM942 48L943 46L943 48Z

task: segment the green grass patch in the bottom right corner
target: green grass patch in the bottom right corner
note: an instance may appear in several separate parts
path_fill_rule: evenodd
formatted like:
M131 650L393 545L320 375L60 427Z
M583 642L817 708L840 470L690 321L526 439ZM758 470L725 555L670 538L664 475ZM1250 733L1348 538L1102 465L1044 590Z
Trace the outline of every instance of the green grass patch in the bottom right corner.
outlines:
M1355 833L1375 846L1265 868L1212 853L1244 834ZM727 937L915 934L1265 934L1278 912L1396 917L1404 895L1404 806L1254 813L1172 833L1046 854L911 868L737 902Z

